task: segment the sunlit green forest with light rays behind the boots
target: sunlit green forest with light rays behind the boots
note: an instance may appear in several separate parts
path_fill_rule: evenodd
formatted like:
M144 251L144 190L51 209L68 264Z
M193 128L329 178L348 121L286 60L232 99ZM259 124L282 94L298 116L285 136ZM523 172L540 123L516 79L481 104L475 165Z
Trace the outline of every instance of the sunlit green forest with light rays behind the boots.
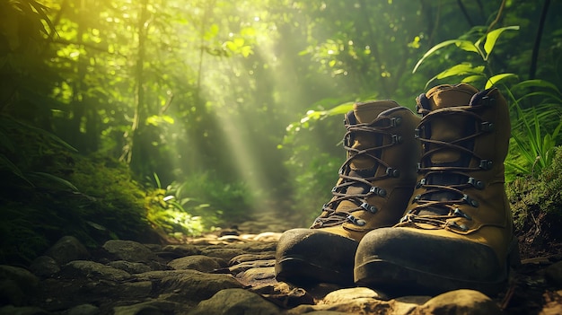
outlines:
M338 178L350 104L413 109L429 87L460 82L505 92L508 180L538 175L560 144L561 5L0 0L0 171L20 191L2 198L21 210L40 188L107 196L89 180L119 174L149 205L129 200L138 209L123 215L147 211L141 221L167 232L264 209L306 222Z

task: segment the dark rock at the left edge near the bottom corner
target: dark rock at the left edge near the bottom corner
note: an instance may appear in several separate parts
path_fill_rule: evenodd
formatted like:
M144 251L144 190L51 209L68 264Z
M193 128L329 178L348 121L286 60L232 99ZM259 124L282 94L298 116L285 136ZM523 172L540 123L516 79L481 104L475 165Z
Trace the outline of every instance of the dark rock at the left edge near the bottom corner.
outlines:
M39 278L22 267L0 265L0 304L21 306L37 291Z

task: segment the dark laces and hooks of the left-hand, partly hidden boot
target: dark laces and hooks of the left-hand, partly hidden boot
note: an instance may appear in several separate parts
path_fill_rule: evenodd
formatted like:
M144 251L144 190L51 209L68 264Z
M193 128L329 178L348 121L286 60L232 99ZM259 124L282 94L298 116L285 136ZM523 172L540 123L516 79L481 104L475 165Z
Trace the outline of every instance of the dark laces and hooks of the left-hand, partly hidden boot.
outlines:
M400 176L400 171L398 169L391 168L387 162L382 161L380 158L382 150L392 145L399 144L402 141L401 136L392 134L391 131L389 131L392 127L400 125L400 122L401 118L398 117L379 117L369 124L346 123L347 132L343 139L343 145L348 152L347 160L339 168L338 176L340 180L338 180L338 184L332 188L333 197L328 203L322 206L322 214L314 220L312 228L335 226L346 222L363 226L366 224L366 221L356 218L354 213L357 211L368 211L374 214L378 211L376 206L369 205L367 199L374 196L385 197L387 194L384 188L374 186L374 181ZM378 139L378 145L369 145L369 147L365 149L354 148L352 145L357 133L362 133L363 135L366 133L370 134L370 138ZM384 137L390 138L391 141L388 144L382 144L382 139ZM353 171L351 169L351 163L360 157L368 157L373 160L373 169L367 170L370 174L365 174L366 171ZM386 168L386 172L382 176L375 176L376 170L380 167ZM338 205L345 200L351 201L356 207L337 210Z

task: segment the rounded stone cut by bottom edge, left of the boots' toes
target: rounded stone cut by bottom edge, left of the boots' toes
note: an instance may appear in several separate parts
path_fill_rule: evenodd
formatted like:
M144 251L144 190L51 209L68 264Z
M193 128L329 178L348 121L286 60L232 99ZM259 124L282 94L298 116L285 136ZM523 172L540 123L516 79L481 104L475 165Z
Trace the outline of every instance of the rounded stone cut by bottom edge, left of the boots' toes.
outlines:
M199 302L197 308L189 315L275 315L281 314L281 310L264 300L256 293L244 289L226 289L219 291L208 300Z

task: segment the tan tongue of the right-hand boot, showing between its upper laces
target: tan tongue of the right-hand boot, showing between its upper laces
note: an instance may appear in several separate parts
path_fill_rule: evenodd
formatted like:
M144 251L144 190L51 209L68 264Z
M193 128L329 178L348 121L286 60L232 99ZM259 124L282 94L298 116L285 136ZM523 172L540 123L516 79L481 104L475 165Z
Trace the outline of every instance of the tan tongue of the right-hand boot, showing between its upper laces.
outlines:
M426 104L422 106L429 110L452 108L457 106L468 106L470 99L479 92L468 84L440 85L426 92ZM461 115L451 115L447 118L439 119L431 123L430 139L450 143L460 139L470 132L473 121ZM429 146L428 150L433 149ZM427 151L427 150L426 150ZM433 153L430 157L432 164L458 163L461 160L461 153L456 150L441 149Z

